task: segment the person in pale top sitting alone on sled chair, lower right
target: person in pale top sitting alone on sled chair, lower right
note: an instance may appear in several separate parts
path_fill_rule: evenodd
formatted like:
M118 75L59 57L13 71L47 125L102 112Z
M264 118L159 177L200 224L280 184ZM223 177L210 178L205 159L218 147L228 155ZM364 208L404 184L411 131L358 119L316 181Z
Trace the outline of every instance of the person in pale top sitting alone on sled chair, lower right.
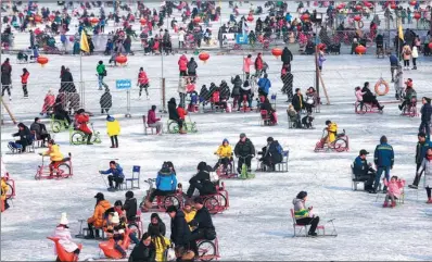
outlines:
M306 209L307 192L300 191L297 196L292 200L294 204L294 217L297 225L310 225L307 235L316 237L318 234L315 232L319 223L319 216L315 216L310 213L313 207Z

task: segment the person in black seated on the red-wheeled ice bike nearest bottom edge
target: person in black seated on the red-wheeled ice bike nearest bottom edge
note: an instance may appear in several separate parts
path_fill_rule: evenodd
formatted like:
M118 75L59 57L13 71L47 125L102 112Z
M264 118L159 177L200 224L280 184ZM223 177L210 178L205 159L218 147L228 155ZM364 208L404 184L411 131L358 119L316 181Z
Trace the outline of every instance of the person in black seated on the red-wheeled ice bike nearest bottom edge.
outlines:
M212 216L207 210L203 205L203 199L198 198L195 199L195 209L196 209L196 214L195 217L191 222L189 222L189 225L196 227L191 234L190 237L190 248L191 250L198 254L198 246L196 246L196 240L199 239L206 239L206 240L214 240L216 238L216 229L215 226L213 225Z

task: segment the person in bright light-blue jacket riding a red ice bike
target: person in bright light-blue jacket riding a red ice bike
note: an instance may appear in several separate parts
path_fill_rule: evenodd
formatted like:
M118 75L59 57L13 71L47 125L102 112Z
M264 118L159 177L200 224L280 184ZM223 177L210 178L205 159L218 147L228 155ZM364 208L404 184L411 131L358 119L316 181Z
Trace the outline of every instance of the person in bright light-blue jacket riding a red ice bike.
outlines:
M167 162L162 165L162 169L157 173L156 177L156 189L150 194L149 199L145 200L145 208L151 209L153 199L156 196L168 196L170 194L175 194L177 188L177 178L176 173L171 169Z

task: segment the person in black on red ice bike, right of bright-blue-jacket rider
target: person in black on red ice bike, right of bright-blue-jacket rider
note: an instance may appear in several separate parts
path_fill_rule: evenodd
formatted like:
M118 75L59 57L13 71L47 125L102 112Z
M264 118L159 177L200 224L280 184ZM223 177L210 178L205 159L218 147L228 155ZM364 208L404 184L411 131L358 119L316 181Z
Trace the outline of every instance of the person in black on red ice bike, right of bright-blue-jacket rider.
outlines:
M200 162L196 170L196 175L189 179L188 197L191 198L195 189L200 191L200 196L216 194L216 187L209 178L212 169L208 170L205 162Z

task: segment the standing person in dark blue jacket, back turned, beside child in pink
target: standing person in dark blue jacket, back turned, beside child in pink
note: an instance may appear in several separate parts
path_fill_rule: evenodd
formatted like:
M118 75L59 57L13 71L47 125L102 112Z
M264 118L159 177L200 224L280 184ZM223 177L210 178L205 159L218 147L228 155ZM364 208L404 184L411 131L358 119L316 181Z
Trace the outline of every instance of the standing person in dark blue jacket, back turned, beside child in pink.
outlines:
M380 179L382 172L385 172L385 178L390 180L390 170L393 169L394 164L394 152L393 147L387 144L387 138L382 136L380 139L380 145L374 149L374 164L378 167L377 176L374 178L373 194L377 194L378 185L380 185ZM384 186L384 192L386 187Z

